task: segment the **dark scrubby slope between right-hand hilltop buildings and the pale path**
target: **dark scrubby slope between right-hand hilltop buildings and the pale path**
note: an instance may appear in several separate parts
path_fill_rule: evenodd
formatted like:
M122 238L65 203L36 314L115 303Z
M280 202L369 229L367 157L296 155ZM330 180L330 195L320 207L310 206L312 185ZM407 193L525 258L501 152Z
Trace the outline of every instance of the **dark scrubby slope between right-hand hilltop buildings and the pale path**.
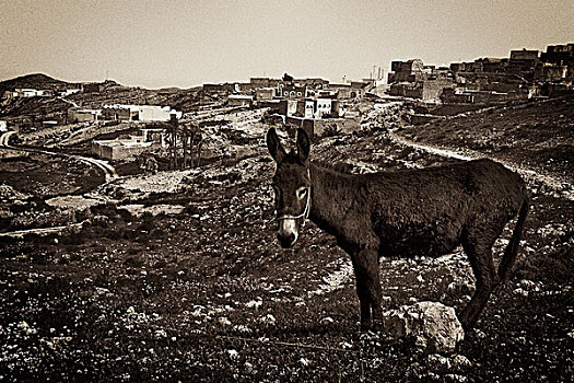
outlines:
M467 113L401 135L417 142L477 151L574 183L574 96Z

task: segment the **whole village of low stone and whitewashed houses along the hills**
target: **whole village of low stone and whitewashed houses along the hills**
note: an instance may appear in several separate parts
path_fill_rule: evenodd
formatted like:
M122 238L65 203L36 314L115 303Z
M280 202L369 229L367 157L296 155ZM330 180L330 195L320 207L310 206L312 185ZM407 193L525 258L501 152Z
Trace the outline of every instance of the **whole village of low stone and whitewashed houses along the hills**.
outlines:
M197 130L199 125L222 120L224 115L241 111L266 109L269 115L280 116L288 126L303 127L309 135L321 137L360 130L364 118L360 112L362 104L383 107L398 101L408 102L413 105L410 123L417 125L488 106L574 92L574 44L548 46L542 53L512 50L508 58L479 58L472 62L453 62L448 68L424 65L420 59L393 61L390 68L386 81L382 68L374 66L368 78L341 83L320 78L293 79L288 73L282 79L251 78L246 83L206 83L190 91L200 100L184 111L149 104L97 106L92 100L106 92L108 82L51 89L15 88L3 92L2 105L22 98L57 97L68 107L51 111L50 118L34 113L27 117L0 117L0 130L15 130L21 132L23 142L30 140L33 146L42 146L50 142L37 141L43 135L33 132L50 131L46 128L65 132L67 129L62 126L70 126L73 131L79 125L86 130L87 126L129 124L136 127L131 136L92 143L92 154L119 160L173 147L172 141L185 152L184 136L176 137L175 141L167 137L169 130L174 131L167 127L169 124L180 121L183 126L196 126ZM151 131L154 134L149 134ZM59 137L59 140L66 138Z

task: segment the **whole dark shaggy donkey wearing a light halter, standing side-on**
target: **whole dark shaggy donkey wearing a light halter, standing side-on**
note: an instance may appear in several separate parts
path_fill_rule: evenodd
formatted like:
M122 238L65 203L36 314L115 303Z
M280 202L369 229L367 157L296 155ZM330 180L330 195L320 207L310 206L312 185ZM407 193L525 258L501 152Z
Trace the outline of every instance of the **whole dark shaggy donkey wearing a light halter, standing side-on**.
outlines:
M273 176L278 239L291 247L307 217L337 237L351 256L361 302L361 328L380 323L379 256L438 256L462 244L477 279L470 303L458 315L471 328L493 288L514 264L528 211L524 181L503 165L456 165L376 174L342 174L311 161L309 139L298 129L296 152L285 152L267 132L277 162ZM519 211L497 272L492 246Z

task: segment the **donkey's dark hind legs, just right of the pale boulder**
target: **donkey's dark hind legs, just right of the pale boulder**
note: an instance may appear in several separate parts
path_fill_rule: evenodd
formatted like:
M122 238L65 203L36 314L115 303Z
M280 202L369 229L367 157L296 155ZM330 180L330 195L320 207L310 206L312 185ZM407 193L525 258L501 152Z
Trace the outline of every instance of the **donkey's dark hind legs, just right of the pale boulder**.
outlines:
M462 248L470 260L475 278L477 279L475 294L458 316L465 330L475 326L480 313L489 301L492 290L499 283L499 277L492 260L492 242L485 240L469 241L468 239L462 241Z

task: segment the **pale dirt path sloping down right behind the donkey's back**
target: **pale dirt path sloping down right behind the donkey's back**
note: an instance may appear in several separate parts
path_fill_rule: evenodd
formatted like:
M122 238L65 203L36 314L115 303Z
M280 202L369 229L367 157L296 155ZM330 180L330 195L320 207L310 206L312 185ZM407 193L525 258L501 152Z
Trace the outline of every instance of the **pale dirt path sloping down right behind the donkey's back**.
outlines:
M562 178L560 178L558 176L548 175L548 174L540 174L539 172L536 172L534 170L524 169L524 167L522 167L520 165L518 165L518 164L516 164L514 162L506 161L506 160L501 160L501 159L497 159L497 158L492 158L492 156L489 156L487 154L483 154L483 153L480 153L480 152L477 152L477 151L470 150L470 149L465 149L464 153L460 153L460 152L457 152L457 151L454 151L454 150L450 150L450 149L437 148L437 147L433 147L433 146L430 146L430 144L417 143L417 142L410 141L410 140L403 138L403 137L400 137L400 136L398 136L395 132L390 132L389 137L390 137L390 139L393 141L395 141L395 142L397 142L399 144L411 147L411 148L414 148L414 149L418 149L418 150L422 150L422 151L425 151L425 152L429 152L429 153L432 153L432 154L446 156L446 158L450 158L450 159L457 159L457 160L462 160L462 161L470 161L470 160L478 160L478 159L491 159L491 160L494 160L496 162L502 163L504 166L506 166L506 167L517 172L518 174L520 174L522 176L527 178L527 181L531 181L534 183L544 185L549 190L551 190L550 194L553 197L566 198L569 200L574 200L574 188L571 185L569 185L567 181L562 179ZM565 185L567 185L567 186L565 187Z

